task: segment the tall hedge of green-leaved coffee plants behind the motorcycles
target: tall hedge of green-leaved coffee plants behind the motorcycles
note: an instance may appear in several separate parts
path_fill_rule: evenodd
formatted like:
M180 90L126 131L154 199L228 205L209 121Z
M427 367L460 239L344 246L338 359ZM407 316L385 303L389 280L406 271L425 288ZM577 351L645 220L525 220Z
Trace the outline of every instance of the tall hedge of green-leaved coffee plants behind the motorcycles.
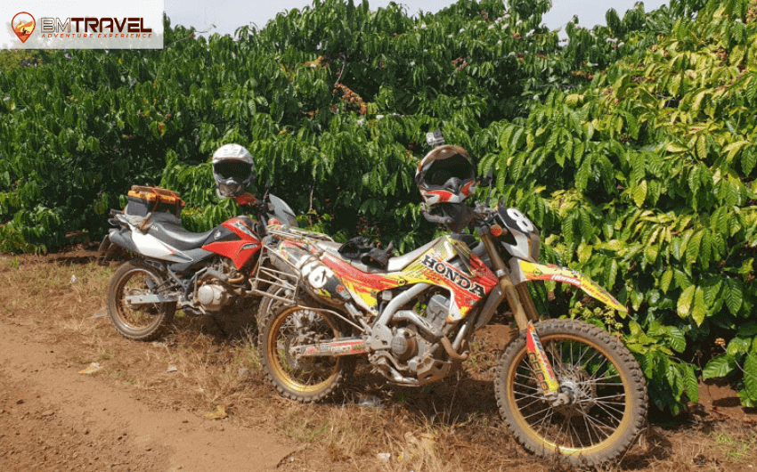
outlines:
M316 0L234 37L166 18L163 50L0 52L0 250L102 237L131 184L180 191L183 224L208 230L238 211L209 157L238 142L250 190L406 251L435 232L413 175L441 129L541 226L545 260L632 308L548 283L542 310L623 333L660 408L696 401L699 370L757 403L753 4L639 3L563 34L541 24L549 5Z

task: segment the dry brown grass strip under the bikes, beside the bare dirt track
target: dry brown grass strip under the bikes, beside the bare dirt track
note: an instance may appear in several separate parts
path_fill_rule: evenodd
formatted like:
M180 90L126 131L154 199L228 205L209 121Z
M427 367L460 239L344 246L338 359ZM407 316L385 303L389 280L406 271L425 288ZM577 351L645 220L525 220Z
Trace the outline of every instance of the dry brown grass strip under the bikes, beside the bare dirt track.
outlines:
M34 340L56 345L56 352L66 353L75 367L100 362L103 369L94 375L131 389L146 403L198 415L223 406L229 420L240 425L277 427L304 444L310 469L568 469L525 453L501 425L491 385L501 346L492 346L492 339L471 343L470 360L442 382L417 389L392 387L362 364L329 403L300 405L281 399L265 382L251 313L219 324L210 317L177 313L174 329L159 342L121 338L107 316L94 316L104 313L113 271L85 256L51 262L51 256L0 254L0 318L33 326ZM73 284L72 275L77 279ZM176 369L169 372L169 367ZM381 406L358 406L366 396ZM757 468L757 434L718 428L706 433L701 428L650 428L623 460L600 470Z

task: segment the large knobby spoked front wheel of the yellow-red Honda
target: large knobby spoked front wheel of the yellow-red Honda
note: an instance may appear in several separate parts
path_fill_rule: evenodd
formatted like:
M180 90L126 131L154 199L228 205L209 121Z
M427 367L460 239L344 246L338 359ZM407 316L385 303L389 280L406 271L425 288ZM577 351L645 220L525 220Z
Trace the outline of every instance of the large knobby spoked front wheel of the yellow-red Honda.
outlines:
M558 382L574 391L573 404L553 407L525 350L525 331L502 354L494 392L502 418L525 449L574 466L615 460L647 419L647 384L639 363L617 338L582 321L536 326Z

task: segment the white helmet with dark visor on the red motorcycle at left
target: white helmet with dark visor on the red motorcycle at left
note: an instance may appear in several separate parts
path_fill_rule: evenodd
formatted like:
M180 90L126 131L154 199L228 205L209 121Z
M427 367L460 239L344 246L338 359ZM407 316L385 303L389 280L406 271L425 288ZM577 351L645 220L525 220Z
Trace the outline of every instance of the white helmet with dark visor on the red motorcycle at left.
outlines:
M224 144L213 153L213 178L222 199L238 197L255 175L252 155L239 144Z

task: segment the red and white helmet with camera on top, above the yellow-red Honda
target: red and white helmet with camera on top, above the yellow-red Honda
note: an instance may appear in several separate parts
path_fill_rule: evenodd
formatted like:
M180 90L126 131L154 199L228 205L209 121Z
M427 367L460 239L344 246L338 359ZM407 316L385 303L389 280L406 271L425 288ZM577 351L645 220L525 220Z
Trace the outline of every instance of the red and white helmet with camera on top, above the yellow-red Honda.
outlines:
M476 165L460 146L438 146L421 159L415 183L429 209L462 203L476 191Z

